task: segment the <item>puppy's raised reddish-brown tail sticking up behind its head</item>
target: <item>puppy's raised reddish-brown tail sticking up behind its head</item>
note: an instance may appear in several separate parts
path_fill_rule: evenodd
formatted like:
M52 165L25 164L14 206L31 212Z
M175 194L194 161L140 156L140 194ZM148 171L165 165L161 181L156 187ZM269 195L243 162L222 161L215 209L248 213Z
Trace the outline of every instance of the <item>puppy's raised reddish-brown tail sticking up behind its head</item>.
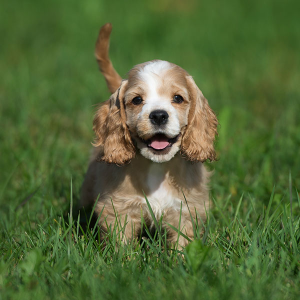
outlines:
M109 59L109 37L112 30L110 23L104 24L99 32L99 36L96 42L95 56L103 74L108 89L111 93L114 93L121 85L122 78L118 72L114 69Z

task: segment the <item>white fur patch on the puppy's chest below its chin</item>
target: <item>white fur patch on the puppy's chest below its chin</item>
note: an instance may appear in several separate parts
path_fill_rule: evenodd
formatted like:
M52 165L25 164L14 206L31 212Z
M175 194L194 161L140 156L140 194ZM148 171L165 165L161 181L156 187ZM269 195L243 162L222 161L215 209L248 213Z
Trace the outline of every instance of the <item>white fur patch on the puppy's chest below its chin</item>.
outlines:
M147 176L149 193L146 196L156 218L160 218L166 209L180 210L181 207L181 200L172 193L167 175L163 164L151 164Z

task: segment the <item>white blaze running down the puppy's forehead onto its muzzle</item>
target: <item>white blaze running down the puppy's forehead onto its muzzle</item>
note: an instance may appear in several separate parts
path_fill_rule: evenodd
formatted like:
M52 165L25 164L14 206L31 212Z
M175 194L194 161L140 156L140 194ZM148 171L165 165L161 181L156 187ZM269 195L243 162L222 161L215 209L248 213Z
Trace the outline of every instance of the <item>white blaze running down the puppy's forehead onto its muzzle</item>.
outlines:
M165 128L166 134L175 136L180 132L180 124L176 109L172 106L170 95L159 95L158 89L163 84L164 73L171 69L172 65L167 61L154 61L147 64L139 71L139 76L147 86L145 104L140 112L140 117L148 117L154 110L165 110L169 120Z

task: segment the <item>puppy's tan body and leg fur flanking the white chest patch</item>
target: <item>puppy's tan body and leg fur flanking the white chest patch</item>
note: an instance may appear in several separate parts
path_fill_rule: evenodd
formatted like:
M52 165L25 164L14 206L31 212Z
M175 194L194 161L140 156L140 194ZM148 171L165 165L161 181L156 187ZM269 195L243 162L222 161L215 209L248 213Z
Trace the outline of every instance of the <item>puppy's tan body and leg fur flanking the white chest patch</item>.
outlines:
M123 240L129 241L140 233L141 216L150 228L154 226L143 194L148 195L150 201L147 176L151 164L151 161L140 154L130 164L122 167L96 160L90 163L82 188L81 205L86 206L98 200L96 213L101 215L99 224L104 232L109 231L109 226L124 227L126 219ZM182 201L180 230L193 239L190 212L194 220L197 213L198 225L201 225L206 221L206 211L211 206L207 187L209 173L202 163L191 163L180 155L163 165L168 193ZM169 208L164 211L163 226L169 231L171 244L176 243L178 234L168 224L178 228L179 218L178 209ZM181 236L179 245L185 246L187 243Z

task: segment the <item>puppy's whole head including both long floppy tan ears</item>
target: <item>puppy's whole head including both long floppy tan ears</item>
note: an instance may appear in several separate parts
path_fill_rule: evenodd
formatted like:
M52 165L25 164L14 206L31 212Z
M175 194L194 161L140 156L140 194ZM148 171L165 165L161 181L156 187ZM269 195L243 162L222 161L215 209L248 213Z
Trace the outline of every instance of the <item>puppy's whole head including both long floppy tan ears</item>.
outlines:
M166 61L135 66L97 111L95 145L101 159L124 164L141 154L166 162L181 150L191 161L215 159L218 121L189 74Z

